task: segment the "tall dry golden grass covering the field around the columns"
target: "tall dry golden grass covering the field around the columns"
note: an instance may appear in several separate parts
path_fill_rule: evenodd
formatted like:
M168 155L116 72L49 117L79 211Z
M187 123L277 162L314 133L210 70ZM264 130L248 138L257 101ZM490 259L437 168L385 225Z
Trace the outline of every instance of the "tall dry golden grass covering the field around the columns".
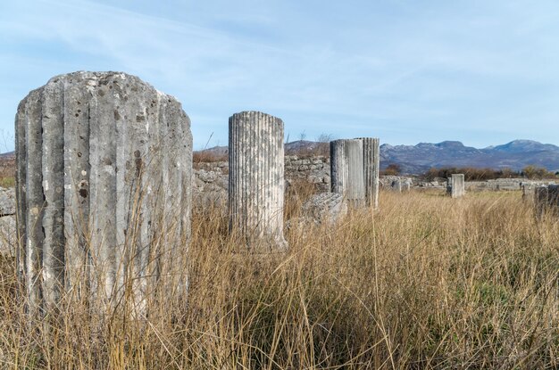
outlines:
M29 325L2 258L0 367L558 368L559 220L491 195L381 193L378 214L291 229L287 254L238 251L222 207L196 210L188 297L144 320L71 303Z

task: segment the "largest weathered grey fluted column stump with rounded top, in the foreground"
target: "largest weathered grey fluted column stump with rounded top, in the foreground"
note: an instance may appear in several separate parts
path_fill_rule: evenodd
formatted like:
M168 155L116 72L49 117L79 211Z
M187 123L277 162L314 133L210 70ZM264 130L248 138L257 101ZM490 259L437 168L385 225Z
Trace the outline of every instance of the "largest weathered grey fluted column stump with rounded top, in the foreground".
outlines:
M79 295L115 303L131 282L141 305L147 276L182 284L174 266L190 234L192 136L177 100L124 73L75 72L31 91L15 127L30 312L84 285L91 292Z

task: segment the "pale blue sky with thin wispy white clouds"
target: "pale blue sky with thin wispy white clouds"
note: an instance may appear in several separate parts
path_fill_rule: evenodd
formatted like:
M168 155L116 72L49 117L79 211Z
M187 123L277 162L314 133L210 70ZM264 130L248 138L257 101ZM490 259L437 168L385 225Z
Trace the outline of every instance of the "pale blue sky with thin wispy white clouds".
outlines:
M26 0L0 4L0 152L17 104L75 70L176 96L195 148L258 110L382 143L559 144L559 2Z

